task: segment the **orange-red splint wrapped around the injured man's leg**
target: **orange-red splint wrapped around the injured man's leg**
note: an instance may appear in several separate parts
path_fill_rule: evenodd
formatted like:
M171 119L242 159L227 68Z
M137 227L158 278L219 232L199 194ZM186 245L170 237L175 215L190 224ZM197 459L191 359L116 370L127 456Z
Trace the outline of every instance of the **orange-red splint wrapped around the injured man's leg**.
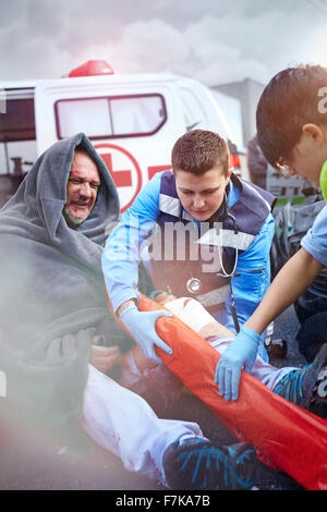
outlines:
M140 310L162 308L142 295ZM214 382L219 353L175 316L156 324L173 350L158 356L240 441L251 442L258 459L283 471L304 488L327 490L327 422L288 402L243 371L239 400L227 402Z

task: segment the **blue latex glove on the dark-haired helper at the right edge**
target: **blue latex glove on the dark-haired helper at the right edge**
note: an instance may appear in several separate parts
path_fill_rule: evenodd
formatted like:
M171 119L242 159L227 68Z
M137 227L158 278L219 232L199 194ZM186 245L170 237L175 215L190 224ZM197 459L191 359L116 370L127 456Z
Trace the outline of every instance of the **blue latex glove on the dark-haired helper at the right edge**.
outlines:
M217 364L215 383L225 400L238 400L241 371L251 373L261 341L261 336L249 327L241 327L237 338L226 349Z

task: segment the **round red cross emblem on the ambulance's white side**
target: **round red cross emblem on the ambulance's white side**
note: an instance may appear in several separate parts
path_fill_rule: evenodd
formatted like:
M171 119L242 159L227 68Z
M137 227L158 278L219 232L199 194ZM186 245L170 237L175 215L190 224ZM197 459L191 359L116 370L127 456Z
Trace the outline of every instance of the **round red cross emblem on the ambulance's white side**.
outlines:
M121 211L125 211L142 188L141 168L126 149L116 144L95 144L118 188Z

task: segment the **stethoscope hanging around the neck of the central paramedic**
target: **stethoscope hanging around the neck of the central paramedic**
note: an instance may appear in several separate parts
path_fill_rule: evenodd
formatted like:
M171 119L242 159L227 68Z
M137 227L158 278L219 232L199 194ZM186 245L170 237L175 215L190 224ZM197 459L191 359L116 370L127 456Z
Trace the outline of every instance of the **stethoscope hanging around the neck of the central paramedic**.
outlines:
M226 219L230 219L232 221L234 234L239 234L239 227L238 227L237 218L228 209L226 191L223 193L223 200L222 200L222 208L221 209L222 209L223 214L218 217L218 221L223 221ZM181 205L180 220L182 220L182 212L183 212L183 206ZM193 218L192 218L192 221L193 221L194 227L196 227L196 230L198 230L198 225L196 224L196 222L194 221ZM218 234L218 228L216 227L215 229L216 229L216 232ZM221 267L221 272L217 272L216 276L219 276L219 277L222 277L222 278L230 278L231 314L232 314L232 317L233 317L235 330L237 330L237 332L240 332L240 325L239 325L238 315L237 315L237 310L235 310L234 295L233 295L233 290L232 290L232 284L231 284L231 278L238 276L238 273L235 273L235 270L237 270L238 263L239 263L239 248L235 247L234 265L233 265L233 269L232 269L231 272L227 272L227 270L223 266L223 263L222 263L222 256L221 255L222 255L222 251L219 251L219 247L218 247L218 257L219 257L219 265ZM202 289L201 280L198 278L194 278L192 276L186 282L186 289L187 289L189 293L192 293L192 294L198 293Z

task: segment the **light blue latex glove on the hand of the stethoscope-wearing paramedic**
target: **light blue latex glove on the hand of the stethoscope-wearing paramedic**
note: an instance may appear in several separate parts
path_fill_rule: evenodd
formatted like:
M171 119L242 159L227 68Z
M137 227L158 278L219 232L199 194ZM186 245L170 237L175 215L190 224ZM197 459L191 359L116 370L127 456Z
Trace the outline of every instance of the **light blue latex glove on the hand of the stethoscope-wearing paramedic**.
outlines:
M162 364L162 362L156 355L155 345L162 349L167 354L172 354L172 349L158 337L156 331L156 320L161 316L171 317L172 313L162 309L158 312L140 312L135 306L125 309L120 316L120 320L129 329L144 355L158 364Z

